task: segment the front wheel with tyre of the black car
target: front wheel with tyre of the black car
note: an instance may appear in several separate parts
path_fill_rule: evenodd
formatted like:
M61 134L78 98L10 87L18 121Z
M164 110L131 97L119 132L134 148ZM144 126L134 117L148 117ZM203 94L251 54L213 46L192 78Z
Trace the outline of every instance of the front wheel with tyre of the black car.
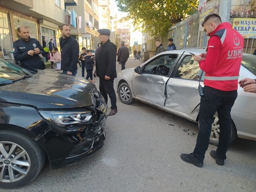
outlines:
M32 182L44 161L44 152L31 137L0 131L0 188L19 188Z

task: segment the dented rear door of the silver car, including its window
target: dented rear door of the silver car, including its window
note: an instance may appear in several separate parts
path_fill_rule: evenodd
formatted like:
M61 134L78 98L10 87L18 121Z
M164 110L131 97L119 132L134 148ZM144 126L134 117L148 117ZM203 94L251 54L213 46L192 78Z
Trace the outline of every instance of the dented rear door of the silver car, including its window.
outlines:
M165 107L172 113L195 121L199 112L198 85L202 73L192 56L184 56L174 77L166 85ZM200 84L203 86L203 82Z

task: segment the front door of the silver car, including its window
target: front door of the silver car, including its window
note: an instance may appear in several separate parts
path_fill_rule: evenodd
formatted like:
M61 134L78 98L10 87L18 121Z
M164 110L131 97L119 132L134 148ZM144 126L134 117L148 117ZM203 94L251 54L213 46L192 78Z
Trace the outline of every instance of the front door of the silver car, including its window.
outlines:
M151 105L164 105L165 84L177 58L167 61L166 57L168 58L168 55L157 57L142 67L142 74L134 74L132 85L136 99Z

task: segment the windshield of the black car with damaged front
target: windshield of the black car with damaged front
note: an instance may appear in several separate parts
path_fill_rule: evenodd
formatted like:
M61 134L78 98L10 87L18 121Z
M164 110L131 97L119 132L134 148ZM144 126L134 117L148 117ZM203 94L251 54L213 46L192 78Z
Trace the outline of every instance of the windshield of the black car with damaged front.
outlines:
M0 84L13 83L14 81L32 76L32 71L20 68L19 66L0 59Z

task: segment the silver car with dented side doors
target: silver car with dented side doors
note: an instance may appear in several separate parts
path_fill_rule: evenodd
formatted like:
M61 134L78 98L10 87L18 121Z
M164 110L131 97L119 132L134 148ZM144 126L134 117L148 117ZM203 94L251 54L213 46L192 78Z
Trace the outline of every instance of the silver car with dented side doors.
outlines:
M200 96L198 86L203 86L204 71L199 68L189 52L200 54L205 50L165 51L148 59L135 69L122 70L115 87L122 103L139 100L193 122L199 120ZM256 79L256 56L244 53L239 80ZM238 88L238 97L231 110L230 142L236 136L256 141L256 94ZM212 124L210 143L218 145L218 114Z

